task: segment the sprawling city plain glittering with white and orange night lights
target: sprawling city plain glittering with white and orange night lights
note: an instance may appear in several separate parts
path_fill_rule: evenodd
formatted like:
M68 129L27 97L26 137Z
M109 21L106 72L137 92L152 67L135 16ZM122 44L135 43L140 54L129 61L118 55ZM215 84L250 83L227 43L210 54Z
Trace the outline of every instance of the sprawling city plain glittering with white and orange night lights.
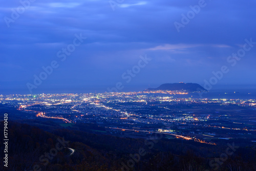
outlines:
M178 98L179 91L88 94L0 95L0 103L20 118L61 126L93 123L94 133L184 139L216 145L218 139L256 138L256 100Z

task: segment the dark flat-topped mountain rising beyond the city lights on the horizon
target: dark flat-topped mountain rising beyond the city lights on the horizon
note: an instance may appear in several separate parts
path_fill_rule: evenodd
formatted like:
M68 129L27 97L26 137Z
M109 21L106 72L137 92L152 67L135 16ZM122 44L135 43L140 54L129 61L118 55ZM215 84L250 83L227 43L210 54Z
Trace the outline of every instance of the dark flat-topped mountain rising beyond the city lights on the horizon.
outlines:
M202 86L197 83L165 83L159 86L158 88L148 88L147 90L168 90L168 91L187 91L187 92L196 92L196 91L207 91Z

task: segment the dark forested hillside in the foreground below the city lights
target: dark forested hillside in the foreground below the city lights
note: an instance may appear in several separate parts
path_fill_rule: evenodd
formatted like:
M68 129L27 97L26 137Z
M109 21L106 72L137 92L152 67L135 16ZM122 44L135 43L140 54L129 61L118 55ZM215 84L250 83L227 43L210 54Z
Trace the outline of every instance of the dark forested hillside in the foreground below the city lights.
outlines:
M3 122L1 122L3 132ZM185 140L148 140L121 138L112 135L93 134L86 131L56 127L50 132L29 124L9 122L8 169L4 170L214 170L212 159L225 153L227 142L218 145ZM153 135L154 136L154 135ZM3 134L1 134L3 140ZM62 143L61 143L62 142ZM219 163L216 170L256 170L256 151L253 146L236 143L239 148ZM229 142L232 144L232 141ZM55 152L47 162L46 153ZM68 147L75 149L70 156ZM144 155L133 167L124 167L139 150ZM4 146L1 146L1 153ZM51 153L50 153L51 154ZM54 154L54 153L52 153ZM41 157L44 156L44 157ZM41 157L41 158L40 158ZM45 160L44 160L45 159ZM137 158L138 159L138 158ZM3 160L3 158L1 158ZM3 161L2 161L3 163Z

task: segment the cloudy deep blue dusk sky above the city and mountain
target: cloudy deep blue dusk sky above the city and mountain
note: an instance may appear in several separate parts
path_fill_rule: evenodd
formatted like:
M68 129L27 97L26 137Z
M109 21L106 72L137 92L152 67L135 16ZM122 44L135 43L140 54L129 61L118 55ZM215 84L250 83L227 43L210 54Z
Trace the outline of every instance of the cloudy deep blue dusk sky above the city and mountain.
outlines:
M29 94L28 83L32 93L180 81L203 86L223 66L228 73L213 88L256 84L256 44L245 45L256 42L254 0L22 2L26 8L19 1L0 7L0 94ZM229 57L238 52L242 57ZM140 61L145 56L151 60ZM36 85L34 76L54 61Z

